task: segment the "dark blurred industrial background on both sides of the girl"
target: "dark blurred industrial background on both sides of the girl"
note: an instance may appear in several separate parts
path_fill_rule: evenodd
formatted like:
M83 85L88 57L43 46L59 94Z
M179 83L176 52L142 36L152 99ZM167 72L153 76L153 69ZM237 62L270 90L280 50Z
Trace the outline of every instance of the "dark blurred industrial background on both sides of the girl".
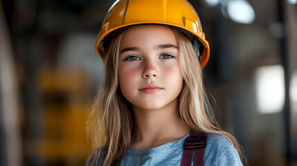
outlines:
M84 165L112 3L0 1L0 165ZM250 165L297 165L297 0L190 3L210 43L217 120Z

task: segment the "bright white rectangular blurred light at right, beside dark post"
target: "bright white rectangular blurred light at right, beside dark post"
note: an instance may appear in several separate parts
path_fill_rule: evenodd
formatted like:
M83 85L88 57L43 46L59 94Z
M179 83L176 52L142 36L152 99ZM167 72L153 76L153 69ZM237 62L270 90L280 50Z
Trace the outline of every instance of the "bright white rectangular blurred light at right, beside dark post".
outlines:
M285 72L281 65L262 66L255 73L260 113L282 111L285 104Z

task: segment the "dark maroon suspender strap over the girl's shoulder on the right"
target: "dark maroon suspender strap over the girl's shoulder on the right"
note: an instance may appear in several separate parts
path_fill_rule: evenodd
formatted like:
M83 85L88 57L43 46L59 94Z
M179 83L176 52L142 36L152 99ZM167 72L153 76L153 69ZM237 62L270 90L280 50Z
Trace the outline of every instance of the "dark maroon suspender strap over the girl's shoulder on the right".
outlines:
M181 166L191 166L194 158L194 166L204 165L204 152L206 147L207 133L191 132L186 138L181 158ZM193 157L194 154L194 157Z

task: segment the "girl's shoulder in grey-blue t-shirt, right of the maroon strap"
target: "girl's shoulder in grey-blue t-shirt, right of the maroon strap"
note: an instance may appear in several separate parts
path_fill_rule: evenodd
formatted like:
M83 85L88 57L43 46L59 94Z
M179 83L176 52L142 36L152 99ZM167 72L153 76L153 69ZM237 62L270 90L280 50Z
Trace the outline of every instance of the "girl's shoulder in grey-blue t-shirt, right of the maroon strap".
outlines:
M242 165L231 140L215 133L208 133L205 163L206 165Z

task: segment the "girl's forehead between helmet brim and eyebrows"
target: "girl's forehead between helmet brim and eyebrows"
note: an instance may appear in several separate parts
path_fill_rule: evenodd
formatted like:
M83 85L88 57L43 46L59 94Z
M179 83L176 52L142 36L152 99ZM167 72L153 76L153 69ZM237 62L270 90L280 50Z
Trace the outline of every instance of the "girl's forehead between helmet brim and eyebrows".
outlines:
M161 44L174 44L177 46L177 38L172 29L162 25L132 26L123 36L120 48L127 46L157 46Z

